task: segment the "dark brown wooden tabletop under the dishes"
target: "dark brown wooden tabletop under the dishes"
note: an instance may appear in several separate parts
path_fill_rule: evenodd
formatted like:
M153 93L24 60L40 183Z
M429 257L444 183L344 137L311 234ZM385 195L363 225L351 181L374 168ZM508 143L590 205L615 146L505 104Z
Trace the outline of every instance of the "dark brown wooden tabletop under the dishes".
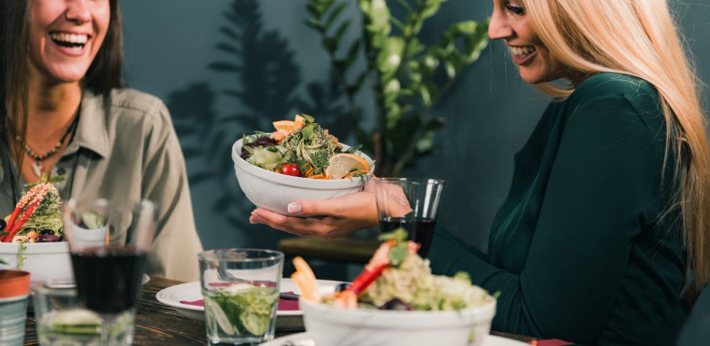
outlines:
M173 308L155 299L158 291L176 284L182 284L182 281L151 277L151 281L143 286L143 296L138 300L138 311L136 311L134 345L207 345L204 322L182 317ZM276 337L292 333L277 332ZM521 335L496 332L493 334L526 342L532 340ZM25 345L39 345L35 316L31 312L27 314Z

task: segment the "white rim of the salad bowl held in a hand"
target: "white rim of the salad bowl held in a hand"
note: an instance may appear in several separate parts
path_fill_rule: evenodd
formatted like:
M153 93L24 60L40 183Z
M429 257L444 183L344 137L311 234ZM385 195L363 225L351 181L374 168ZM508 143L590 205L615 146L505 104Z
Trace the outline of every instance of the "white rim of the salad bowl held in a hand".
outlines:
M236 172L237 174L239 174L239 170L241 170L259 179L273 182L275 184L318 190L351 189L361 184L360 179L306 179L302 177L291 177L290 175L278 174L267 169L256 167L253 164L246 162L246 160L239 156L239 153L241 152L241 140L242 138L239 138L239 140L237 140L231 148L231 160L234 160L234 168L238 169ZM349 145L343 143L341 144L344 149L350 147ZM375 165L373 164L371 157L364 152L359 152L359 156L367 161L370 165L370 171L372 172ZM368 181L372 179L372 176L368 175L365 179Z

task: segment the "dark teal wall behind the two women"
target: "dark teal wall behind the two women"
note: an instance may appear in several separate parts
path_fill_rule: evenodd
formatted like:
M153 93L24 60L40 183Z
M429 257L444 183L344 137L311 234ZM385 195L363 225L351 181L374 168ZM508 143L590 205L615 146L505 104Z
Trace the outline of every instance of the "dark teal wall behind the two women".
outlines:
M316 116L342 142L355 140L344 120L346 98L332 78L327 50L318 33L305 24L310 17L307 2L121 2L127 82L163 99L172 113L187 161L197 230L206 249L276 248L280 239L289 237L249 224L253 205L236 183L231 160L231 145L242 133L271 130L272 121L302 112ZM390 2L395 9L396 1ZM344 39L361 30L356 3L348 1L344 9L343 16L353 21ZM699 77L710 83L710 4L706 0L671 4L689 38ZM452 23L485 21L491 7L488 0L444 2L419 37L433 42ZM355 65L365 65L361 54ZM705 100L707 96L705 91ZM371 93L362 88L355 101L362 126L372 127ZM439 225L486 249L488 228L510 186L513 155L549 101L520 80L503 43L491 43L464 69L432 113L445 119L433 155L417 159L415 167L402 173L446 180Z

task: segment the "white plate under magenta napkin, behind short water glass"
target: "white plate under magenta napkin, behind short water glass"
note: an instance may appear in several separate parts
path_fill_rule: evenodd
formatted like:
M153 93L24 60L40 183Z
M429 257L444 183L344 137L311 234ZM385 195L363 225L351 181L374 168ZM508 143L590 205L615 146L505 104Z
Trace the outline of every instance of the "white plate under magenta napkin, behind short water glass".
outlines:
M332 280L317 281L320 291L324 294L335 291L335 286L343 283L343 281ZM288 278L281 279L280 291L301 294L301 290L295 282ZM199 301L202 299L200 281L187 282L162 289L155 294L155 298L160 303L175 308L175 311L178 311L182 316L191 320L204 320L204 307L180 303L180 301ZM303 312L300 310L278 311L276 313L276 329L303 330Z

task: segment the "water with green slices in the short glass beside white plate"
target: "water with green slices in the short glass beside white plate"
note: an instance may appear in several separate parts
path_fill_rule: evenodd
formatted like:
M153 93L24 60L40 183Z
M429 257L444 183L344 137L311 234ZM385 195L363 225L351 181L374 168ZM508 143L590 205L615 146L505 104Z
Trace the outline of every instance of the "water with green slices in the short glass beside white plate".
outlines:
M205 290L202 296L210 345L257 344L273 338L277 289L240 283Z

